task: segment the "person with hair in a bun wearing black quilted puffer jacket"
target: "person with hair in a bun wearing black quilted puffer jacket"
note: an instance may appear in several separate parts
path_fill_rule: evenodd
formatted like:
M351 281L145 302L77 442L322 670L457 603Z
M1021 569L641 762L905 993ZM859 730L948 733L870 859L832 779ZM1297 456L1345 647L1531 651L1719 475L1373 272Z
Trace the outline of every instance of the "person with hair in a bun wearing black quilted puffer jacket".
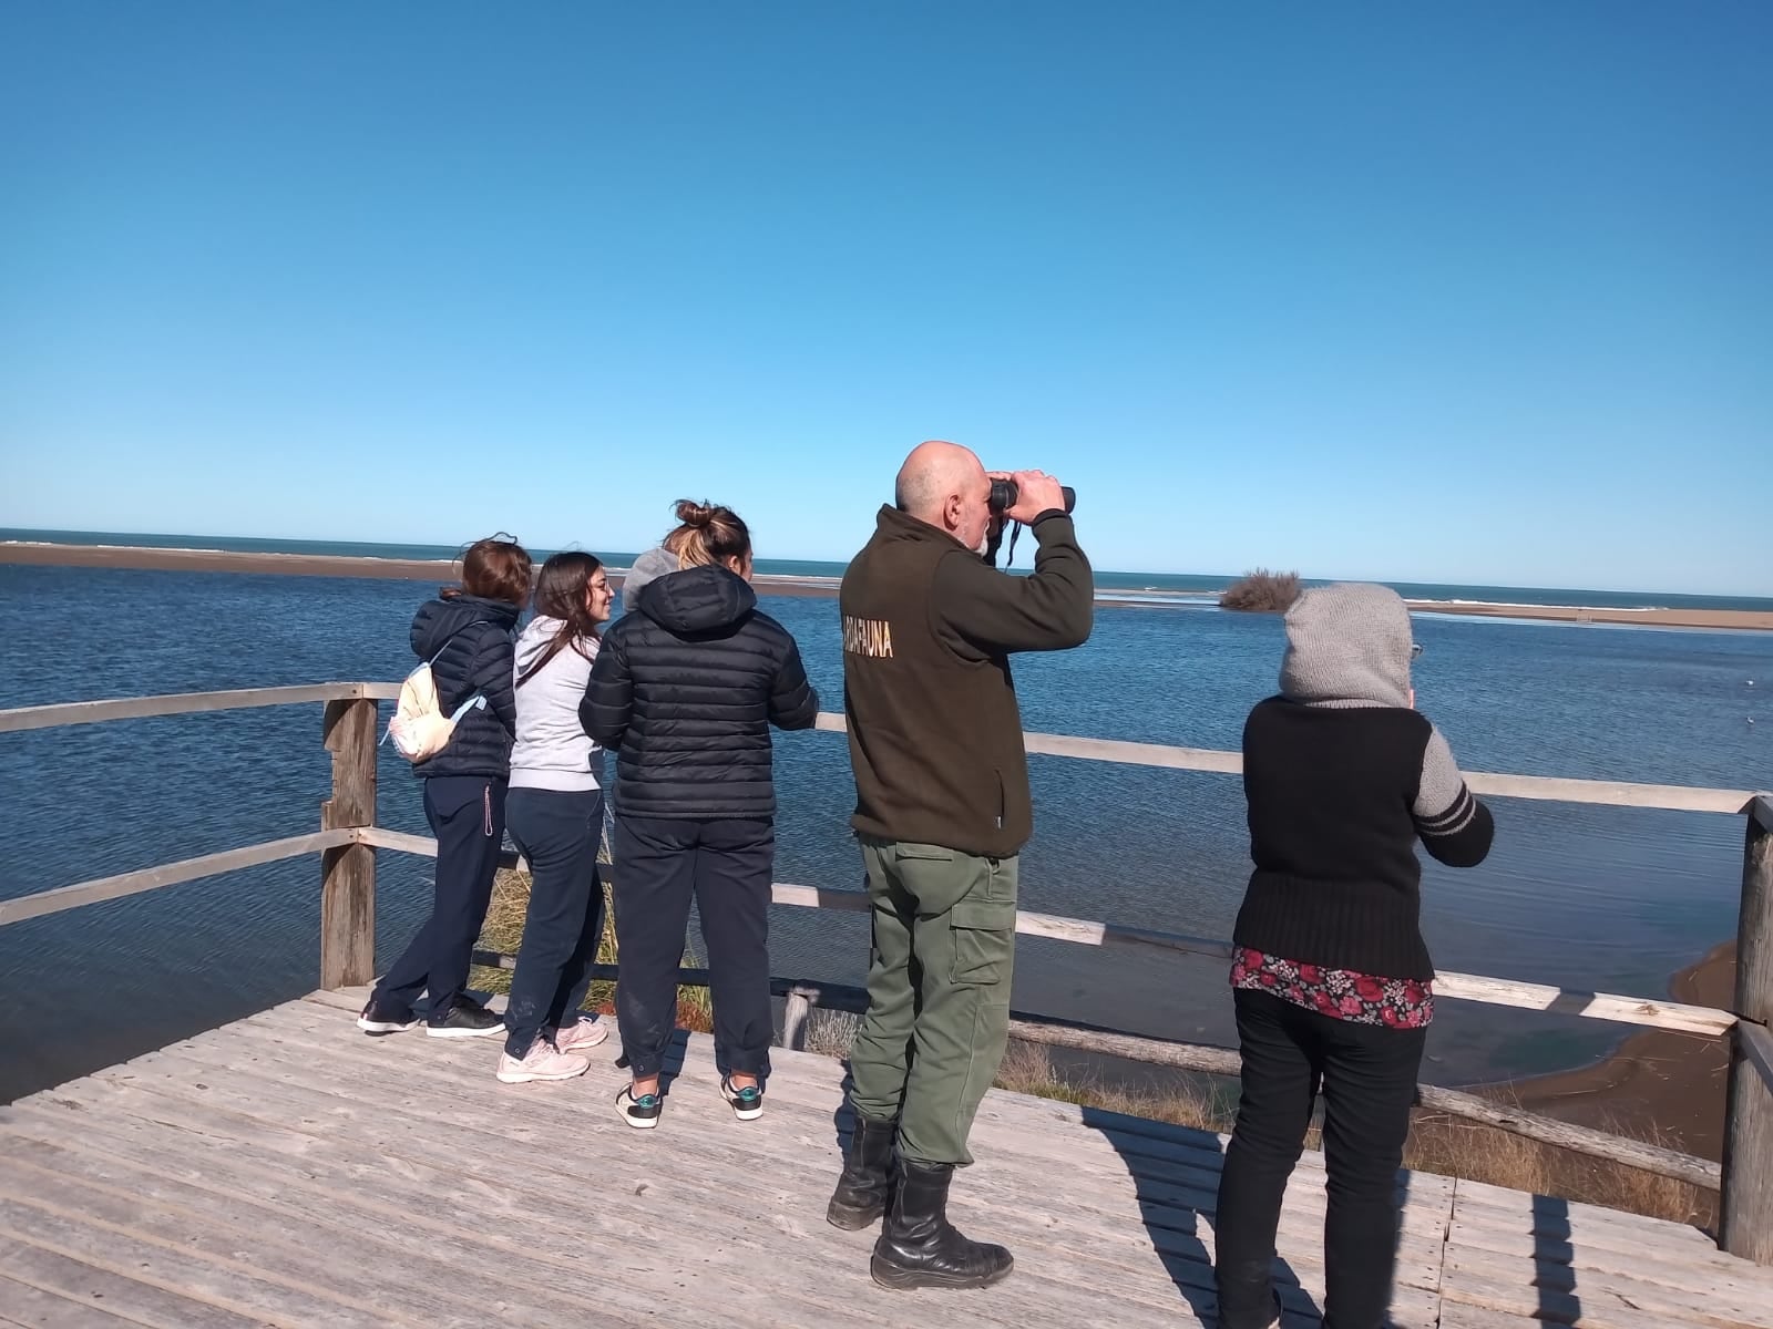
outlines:
M580 707L619 751L615 785L615 1015L633 1084L617 1111L660 1118L660 1069L677 1024L690 900L707 944L720 1092L762 1115L769 1074L769 884L775 781L769 727L810 728L819 696L794 638L757 610L752 537L725 507L677 503L665 548L681 571L651 581L605 633Z

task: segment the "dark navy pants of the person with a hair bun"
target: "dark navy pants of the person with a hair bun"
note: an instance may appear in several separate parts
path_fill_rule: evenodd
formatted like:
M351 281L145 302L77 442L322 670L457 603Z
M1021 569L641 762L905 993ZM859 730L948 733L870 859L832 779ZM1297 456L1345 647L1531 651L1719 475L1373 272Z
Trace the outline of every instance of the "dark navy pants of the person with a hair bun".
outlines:
M615 815L615 1015L635 1079L660 1072L677 1026L690 900L715 1001L720 1074L769 1074L769 877L775 824Z

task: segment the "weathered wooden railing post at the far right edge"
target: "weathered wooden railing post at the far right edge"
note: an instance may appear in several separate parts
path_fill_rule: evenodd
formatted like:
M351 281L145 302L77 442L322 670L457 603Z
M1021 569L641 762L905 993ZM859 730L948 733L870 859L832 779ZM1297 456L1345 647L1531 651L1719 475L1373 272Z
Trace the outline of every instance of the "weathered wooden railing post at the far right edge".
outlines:
M1730 1255L1773 1265L1773 1076L1764 1054L1773 1022L1773 799L1766 794L1748 806L1736 1014L1718 1244Z

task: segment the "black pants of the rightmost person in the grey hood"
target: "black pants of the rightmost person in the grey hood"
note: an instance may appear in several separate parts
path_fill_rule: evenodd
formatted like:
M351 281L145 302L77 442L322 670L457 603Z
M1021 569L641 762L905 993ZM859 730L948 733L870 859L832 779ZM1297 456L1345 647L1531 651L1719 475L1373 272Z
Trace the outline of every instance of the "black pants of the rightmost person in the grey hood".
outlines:
M1397 1168L1425 1030L1319 1015L1268 992L1232 994L1243 1099L1220 1175L1220 1329L1273 1320L1275 1230L1293 1164L1324 1095L1324 1329L1379 1329L1397 1265Z

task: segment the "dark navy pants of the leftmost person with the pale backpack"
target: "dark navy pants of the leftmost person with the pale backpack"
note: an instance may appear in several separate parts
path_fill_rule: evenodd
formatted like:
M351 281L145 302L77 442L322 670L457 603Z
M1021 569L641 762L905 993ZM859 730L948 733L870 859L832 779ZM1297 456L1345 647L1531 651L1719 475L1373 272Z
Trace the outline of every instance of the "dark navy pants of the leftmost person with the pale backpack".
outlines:
M431 992L427 1019L441 1021L468 985L468 960L486 921L505 840L505 781L488 776L426 780L426 820L438 838L431 918L376 985L383 1010L410 1012Z

